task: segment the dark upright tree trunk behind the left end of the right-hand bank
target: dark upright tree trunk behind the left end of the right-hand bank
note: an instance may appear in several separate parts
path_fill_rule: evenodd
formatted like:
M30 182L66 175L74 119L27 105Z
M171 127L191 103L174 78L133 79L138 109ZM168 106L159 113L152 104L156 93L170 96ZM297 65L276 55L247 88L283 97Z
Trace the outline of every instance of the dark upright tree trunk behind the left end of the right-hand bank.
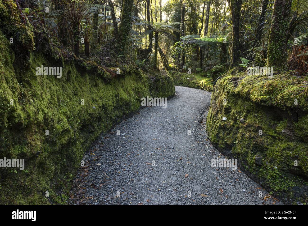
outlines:
M228 0L232 20L231 66L237 65L240 53L240 16L242 0Z

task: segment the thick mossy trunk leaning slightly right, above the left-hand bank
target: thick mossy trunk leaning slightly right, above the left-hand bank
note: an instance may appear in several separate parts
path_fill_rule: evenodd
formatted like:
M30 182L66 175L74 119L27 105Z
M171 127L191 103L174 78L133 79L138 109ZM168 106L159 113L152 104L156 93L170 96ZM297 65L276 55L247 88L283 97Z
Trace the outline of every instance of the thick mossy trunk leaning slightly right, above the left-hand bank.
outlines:
M121 23L118 33L118 49L123 51L132 27L132 7L134 0L124 0L121 11Z

